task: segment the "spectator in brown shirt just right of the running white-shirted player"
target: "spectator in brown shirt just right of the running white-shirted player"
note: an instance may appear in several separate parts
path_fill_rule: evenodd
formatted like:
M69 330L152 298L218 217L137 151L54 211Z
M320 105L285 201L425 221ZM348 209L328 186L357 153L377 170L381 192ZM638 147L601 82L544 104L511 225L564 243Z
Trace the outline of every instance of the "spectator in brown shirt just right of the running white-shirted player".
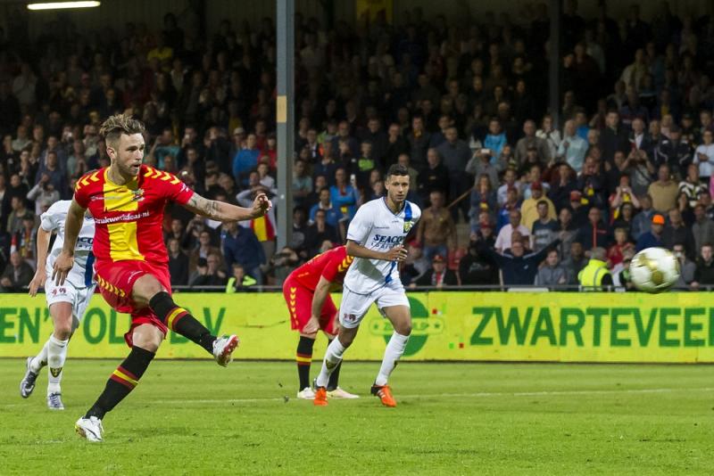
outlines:
M424 247L424 257L431 261L436 255L448 256L456 249L456 226L449 210L444 208L444 194L429 195L431 207L424 209L417 228L417 239Z

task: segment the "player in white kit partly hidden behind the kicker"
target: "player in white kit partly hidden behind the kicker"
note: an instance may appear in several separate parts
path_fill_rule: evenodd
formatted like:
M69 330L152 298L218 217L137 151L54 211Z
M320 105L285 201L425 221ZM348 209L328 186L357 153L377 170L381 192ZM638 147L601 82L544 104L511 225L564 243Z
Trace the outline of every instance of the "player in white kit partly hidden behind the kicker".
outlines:
M29 295L36 296L37 290L45 287L47 306L54 324L54 332L46 341L36 357L28 357L27 371L20 382L22 398L28 398L35 390L37 374L43 366L48 366L49 382L47 383L47 407L51 410L63 410L62 367L67 358L67 345L72 332L79 326L84 316L89 300L95 291L93 277L94 255L92 242L95 237L94 218L86 215L82 224L74 252L74 266L66 281L58 286L54 283L52 270L54 260L62 251L64 242L64 220L70 209L70 200L56 201L42 214L40 226L37 229L37 272L29 283ZM56 231L57 237L49 255L47 248L50 237Z

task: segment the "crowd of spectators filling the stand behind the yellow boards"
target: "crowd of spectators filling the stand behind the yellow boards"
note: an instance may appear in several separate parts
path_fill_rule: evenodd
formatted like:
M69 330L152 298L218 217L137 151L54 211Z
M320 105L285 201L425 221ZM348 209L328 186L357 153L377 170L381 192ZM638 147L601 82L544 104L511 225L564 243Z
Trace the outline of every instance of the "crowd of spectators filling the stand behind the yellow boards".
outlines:
M415 9L399 26L327 29L298 13L295 209L221 225L171 207L173 283L281 284L344 242L400 163L424 209L405 285L576 284L591 250L618 276L649 246L675 250L680 286L714 284L714 16L658 9L615 20L603 2L584 19L565 3L560 128L544 4L526 22L486 12L461 26ZM142 119L145 163L206 197L276 194L275 41L270 19L225 20L204 40L172 14L93 34L67 23L22 44L3 34L0 287L27 285L38 216L109 164L97 131L112 113ZM275 214L288 212L292 242L276 250Z

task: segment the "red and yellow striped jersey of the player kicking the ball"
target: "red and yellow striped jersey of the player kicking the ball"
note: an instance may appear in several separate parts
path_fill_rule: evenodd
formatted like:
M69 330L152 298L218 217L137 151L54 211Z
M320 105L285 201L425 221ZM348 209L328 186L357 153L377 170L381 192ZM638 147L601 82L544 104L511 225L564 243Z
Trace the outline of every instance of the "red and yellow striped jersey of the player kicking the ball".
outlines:
M107 171L82 176L74 190L74 200L95 218L97 265L126 260L165 265L163 209L168 201L187 203L194 191L177 176L145 165L126 185L113 184Z

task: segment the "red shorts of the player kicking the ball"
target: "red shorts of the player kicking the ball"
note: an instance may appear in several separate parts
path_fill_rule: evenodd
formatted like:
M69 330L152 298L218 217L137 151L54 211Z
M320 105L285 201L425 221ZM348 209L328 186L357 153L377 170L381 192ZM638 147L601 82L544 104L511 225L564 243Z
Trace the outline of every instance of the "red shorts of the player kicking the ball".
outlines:
M118 312L131 315L131 327L124 334L124 340L129 347L133 346L132 333L137 325L152 324L159 328L163 335L169 332L166 324L154 314L148 306L139 308L131 299L134 283L143 275L153 275L163 288L171 293L169 267L157 267L145 261L117 261L114 263L97 263L95 277L104 300Z

